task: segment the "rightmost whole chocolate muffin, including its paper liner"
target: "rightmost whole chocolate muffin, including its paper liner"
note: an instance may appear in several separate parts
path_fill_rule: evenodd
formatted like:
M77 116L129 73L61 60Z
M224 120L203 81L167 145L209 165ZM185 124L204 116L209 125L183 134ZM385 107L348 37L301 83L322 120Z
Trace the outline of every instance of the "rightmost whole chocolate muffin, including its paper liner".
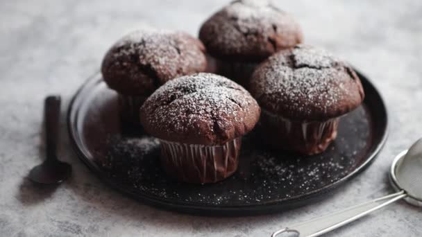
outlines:
M337 136L339 117L364 99L360 79L348 64L303 45L260 64L251 94L262 107L264 141L305 155L326 150Z

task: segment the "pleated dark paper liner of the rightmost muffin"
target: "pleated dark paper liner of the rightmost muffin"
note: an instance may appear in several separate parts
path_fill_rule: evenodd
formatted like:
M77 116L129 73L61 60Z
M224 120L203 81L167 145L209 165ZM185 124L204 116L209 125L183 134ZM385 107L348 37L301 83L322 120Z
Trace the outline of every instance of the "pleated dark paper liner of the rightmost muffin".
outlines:
M337 137L339 118L326 121L294 121L262 109L260 128L271 147L304 155L323 152Z

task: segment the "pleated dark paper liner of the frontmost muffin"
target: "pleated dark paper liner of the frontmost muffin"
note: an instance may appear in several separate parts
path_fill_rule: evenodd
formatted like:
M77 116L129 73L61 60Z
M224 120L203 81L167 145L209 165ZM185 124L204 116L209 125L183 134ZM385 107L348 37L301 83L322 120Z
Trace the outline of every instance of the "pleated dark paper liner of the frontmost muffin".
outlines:
M161 140L161 163L167 174L189 183L214 183L233 175L239 164L242 138L222 146Z

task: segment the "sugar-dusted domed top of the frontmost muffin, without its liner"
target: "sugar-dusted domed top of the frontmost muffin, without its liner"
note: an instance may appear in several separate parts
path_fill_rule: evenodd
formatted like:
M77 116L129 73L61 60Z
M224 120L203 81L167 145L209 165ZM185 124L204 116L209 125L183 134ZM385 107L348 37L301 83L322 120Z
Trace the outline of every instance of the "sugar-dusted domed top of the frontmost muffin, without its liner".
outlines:
M140 109L146 132L166 141L219 146L251 131L260 107L243 87L212 73L170 80Z

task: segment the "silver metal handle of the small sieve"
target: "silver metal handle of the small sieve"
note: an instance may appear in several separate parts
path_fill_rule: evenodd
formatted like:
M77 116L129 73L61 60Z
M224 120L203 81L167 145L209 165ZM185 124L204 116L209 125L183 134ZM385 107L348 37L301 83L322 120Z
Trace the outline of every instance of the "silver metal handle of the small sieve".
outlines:
M372 211L378 210L381 207L385 207L390 203L405 198L406 196L407 194L405 191L400 191L398 193L387 195L383 198L378 198L363 204L330 213L320 218L315 218L300 224L292 225L292 227L280 229L274 232L271 237L276 237L282 233L288 232L296 233L301 237L320 236L321 234L326 234L328 231L332 231L333 229L337 229L338 227L353 222L353 220L357 220L358 218L361 218L362 216L365 216Z

